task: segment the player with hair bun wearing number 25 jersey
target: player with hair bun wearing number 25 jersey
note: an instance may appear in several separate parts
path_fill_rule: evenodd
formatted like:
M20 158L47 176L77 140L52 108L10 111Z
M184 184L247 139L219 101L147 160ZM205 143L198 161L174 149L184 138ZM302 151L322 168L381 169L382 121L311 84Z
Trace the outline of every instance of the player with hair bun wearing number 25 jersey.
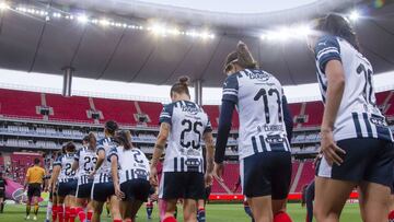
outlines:
M184 221L196 222L197 200L204 198L205 184L211 183L213 170L213 138L207 114L190 101L188 78L179 78L172 85L173 103L165 105L160 115L160 132L151 160L150 180L158 185L157 164L164 151L163 175L159 195L166 202L164 222L174 222L177 199L184 199ZM204 174L201 139L207 149L207 171Z

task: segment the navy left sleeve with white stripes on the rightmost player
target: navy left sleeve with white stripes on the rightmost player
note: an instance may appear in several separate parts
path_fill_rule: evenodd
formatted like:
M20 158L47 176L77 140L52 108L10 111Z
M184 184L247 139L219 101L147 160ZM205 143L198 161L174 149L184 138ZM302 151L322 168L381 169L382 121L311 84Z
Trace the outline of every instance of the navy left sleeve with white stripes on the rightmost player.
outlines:
M323 36L315 46L315 57L318 62L318 69L324 72L325 66L331 60L340 59L340 46L335 36Z

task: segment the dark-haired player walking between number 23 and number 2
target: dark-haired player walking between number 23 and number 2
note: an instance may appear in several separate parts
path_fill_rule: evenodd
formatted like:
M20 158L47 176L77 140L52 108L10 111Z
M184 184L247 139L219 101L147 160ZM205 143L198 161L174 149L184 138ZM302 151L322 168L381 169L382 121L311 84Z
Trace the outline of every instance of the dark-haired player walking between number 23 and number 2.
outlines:
M99 222L103 212L103 206L107 198L111 202L111 213L114 222L121 222L119 212L119 201L115 195L114 183L111 174L111 161L108 160L109 151L117 144L114 141L118 125L114 120L108 120L104 126L105 138L97 141L97 162L91 176L94 176L92 187L93 199L93 218L92 222Z

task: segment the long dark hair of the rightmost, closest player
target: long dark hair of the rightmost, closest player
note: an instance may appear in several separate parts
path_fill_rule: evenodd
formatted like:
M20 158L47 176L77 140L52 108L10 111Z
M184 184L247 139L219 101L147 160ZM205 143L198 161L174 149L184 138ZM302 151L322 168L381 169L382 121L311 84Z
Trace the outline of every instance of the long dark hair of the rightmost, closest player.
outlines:
M339 14L332 13L317 20L315 30L328 35L344 38L357 50L360 50L360 45L358 43L355 30L352 28L349 21Z

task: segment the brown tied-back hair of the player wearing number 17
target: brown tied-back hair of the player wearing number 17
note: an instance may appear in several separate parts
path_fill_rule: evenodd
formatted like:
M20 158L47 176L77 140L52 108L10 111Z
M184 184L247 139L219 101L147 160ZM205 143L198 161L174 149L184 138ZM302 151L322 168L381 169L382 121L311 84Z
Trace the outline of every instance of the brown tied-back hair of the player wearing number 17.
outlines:
M236 63L243 69L258 69L257 61L253 58L246 44L241 40L236 45L236 50L230 52L224 60L224 73L228 72L231 63Z

